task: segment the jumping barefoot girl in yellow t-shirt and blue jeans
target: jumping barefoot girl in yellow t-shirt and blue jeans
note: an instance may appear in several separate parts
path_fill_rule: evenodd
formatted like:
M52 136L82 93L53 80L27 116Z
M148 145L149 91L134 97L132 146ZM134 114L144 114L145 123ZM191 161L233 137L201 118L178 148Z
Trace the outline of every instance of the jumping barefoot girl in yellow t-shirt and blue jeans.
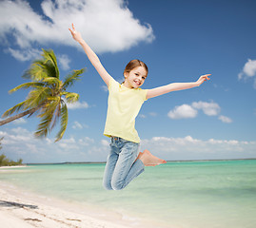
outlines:
M199 86L209 80L210 74L201 76L194 83L173 83L153 89L141 89L148 76L148 66L142 61L131 60L124 70L125 82L120 85L108 74L73 24L69 30L73 39L84 48L90 63L108 85L108 114L104 135L110 137L111 142L103 185L108 190L121 190L140 175L145 166L167 162L153 156L148 150L138 155L140 138L134 125L142 104L149 98L171 91Z

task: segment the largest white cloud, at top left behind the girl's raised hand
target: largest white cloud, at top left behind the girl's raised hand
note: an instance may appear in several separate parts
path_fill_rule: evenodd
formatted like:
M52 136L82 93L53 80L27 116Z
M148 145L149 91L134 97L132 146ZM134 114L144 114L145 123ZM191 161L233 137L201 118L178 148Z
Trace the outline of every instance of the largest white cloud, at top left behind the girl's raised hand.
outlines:
M154 39L150 25L134 18L125 0L44 0L41 8L43 14L33 10L26 0L0 2L0 39L18 60L31 58L35 45L78 47L69 34L71 23L90 47L101 53L125 50Z

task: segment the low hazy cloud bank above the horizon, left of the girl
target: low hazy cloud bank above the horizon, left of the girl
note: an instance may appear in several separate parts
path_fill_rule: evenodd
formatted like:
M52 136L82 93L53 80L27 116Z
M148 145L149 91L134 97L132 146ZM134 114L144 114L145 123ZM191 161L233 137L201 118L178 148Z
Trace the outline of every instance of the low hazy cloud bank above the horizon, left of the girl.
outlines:
M63 161L106 161L108 148L95 143L89 137L68 137L60 142L54 139L35 139L33 133L17 127L0 131L2 153L11 160L24 162L63 162Z

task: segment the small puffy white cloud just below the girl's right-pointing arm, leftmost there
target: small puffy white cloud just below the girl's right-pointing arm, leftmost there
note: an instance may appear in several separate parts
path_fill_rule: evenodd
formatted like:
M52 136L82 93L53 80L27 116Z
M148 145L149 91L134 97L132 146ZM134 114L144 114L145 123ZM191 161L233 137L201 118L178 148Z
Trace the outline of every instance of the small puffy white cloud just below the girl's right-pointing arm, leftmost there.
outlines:
M197 116L197 110L188 104L182 104L180 106L175 106L167 115L170 119L195 118Z

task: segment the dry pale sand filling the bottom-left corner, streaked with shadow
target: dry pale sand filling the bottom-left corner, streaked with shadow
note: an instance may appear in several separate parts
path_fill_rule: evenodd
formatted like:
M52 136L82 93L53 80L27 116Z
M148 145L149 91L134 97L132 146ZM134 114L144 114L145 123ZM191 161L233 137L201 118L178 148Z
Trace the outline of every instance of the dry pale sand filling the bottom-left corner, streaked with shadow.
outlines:
M0 223L2 228L128 228L115 221L91 218L82 213L74 213L67 208L50 206L49 202L31 201L15 196L7 189L0 189Z

